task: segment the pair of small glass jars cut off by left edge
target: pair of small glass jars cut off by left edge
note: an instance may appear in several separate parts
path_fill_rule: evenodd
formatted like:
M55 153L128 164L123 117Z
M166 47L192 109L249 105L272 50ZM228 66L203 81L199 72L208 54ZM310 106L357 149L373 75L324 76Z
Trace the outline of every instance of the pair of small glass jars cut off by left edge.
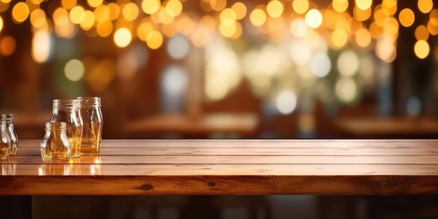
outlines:
M13 120L13 114L0 114L0 160L6 160L17 153L18 136Z

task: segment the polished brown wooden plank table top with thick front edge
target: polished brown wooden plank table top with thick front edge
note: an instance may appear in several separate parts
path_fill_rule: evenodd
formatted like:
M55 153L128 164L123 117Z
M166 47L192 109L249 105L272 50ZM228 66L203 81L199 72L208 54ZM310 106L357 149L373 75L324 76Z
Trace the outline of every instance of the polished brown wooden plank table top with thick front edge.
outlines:
M110 140L43 162L0 161L0 195L438 194L438 140Z

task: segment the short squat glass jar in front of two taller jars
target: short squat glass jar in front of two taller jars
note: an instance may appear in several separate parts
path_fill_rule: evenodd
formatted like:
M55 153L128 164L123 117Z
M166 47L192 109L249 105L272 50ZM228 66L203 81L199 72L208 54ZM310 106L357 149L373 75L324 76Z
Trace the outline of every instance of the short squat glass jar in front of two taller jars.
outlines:
M71 145L66 129L66 122L45 122L45 134L41 141L41 158L44 162L69 160Z

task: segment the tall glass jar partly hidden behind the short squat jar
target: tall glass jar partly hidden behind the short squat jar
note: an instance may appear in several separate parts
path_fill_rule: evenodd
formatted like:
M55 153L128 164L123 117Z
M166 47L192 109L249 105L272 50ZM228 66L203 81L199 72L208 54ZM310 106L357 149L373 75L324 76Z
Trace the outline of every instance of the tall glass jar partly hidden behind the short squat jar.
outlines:
M80 114L80 100L54 99L50 122L66 122L66 135L71 145L70 157L79 157L83 133L83 120Z

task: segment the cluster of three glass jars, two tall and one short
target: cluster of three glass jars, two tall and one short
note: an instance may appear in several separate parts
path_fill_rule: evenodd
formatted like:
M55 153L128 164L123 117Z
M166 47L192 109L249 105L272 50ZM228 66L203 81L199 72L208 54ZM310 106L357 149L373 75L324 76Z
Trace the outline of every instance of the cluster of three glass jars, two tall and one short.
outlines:
M44 162L99 155L103 118L100 97L53 99L50 122L41 141Z

